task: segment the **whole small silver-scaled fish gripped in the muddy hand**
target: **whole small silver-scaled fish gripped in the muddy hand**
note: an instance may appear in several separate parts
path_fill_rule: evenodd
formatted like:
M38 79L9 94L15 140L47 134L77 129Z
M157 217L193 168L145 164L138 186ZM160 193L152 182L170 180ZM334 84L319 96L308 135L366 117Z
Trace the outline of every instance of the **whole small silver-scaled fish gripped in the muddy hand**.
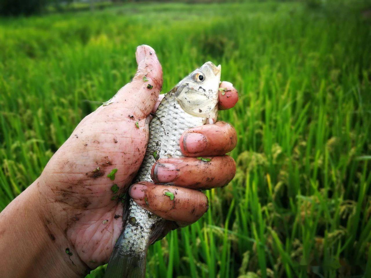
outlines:
M157 159L184 157L179 142L185 130L216 122L220 74L220 65L206 62L164 96L152 115L147 150L134 183L152 181L151 168ZM164 231L165 220L131 198L124 212L124 228L104 277L144 278L148 246Z

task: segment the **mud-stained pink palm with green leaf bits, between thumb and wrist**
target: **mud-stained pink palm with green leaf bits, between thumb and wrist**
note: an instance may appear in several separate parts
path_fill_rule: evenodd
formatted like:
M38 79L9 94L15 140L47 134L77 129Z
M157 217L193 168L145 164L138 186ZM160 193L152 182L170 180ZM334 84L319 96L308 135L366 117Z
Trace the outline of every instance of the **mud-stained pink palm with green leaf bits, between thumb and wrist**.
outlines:
M107 261L112 252L122 227L118 195L127 191L145 153L148 127L145 119L131 115L120 103L100 107L53 157L60 159L52 159L45 169L52 179L47 183L53 185L48 193L54 209L64 211L66 236L92 266ZM112 169L118 169L114 181L107 177ZM117 193L111 189L114 184Z

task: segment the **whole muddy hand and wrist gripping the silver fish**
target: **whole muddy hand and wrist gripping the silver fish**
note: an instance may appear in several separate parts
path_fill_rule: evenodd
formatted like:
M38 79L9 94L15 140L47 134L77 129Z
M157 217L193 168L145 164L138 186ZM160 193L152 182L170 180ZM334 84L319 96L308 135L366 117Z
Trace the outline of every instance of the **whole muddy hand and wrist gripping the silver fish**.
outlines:
M136 57L133 80L86 116L42 175L1 212L0 254L5 259L0 272L7 277L83 277L108 262L122 230L123 195L145 154L148 116L161 99L162 69L154 50L139 46ZM237 91L229 82L220 86L227 90L219 95L219 109L229 109ZM167 219L168 229L197 221L208 203L195 189L224 186L233 178L236 166L225 153L236 140L235 130L224 122L186 131L180 139L186 157L157 160L153 182L131 186L130 196ZM197 156L213 159L200 163ZM171 184L166 188L176 192L176 208L167 208L164 185L155 183Z

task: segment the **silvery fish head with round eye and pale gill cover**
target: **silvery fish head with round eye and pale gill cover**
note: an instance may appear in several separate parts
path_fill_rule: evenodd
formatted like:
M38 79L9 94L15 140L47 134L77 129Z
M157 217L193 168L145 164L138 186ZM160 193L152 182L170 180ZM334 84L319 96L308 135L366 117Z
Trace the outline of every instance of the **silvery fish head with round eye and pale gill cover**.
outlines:
M186 113L204 118L205 123L216 121L220 73L220 65L206 62L178 83L175 99Z

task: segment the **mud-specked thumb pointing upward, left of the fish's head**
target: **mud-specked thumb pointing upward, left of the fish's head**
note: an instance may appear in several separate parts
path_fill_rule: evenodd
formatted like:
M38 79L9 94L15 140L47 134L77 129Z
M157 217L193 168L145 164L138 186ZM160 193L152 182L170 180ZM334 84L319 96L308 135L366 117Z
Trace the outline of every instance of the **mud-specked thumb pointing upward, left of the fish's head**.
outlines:
M112 100L130 109L135 118L146 118L153 110L162 88L162 67L156 52L148 45L138 46L135 56L137 73Z

